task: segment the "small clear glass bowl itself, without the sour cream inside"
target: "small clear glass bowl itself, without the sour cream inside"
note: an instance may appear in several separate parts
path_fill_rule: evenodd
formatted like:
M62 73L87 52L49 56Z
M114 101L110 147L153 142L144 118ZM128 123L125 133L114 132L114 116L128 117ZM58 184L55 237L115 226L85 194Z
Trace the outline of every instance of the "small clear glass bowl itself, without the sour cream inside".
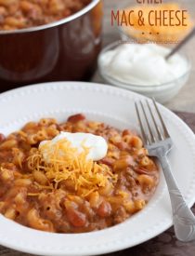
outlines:
M123 83L122 81L116 79L115 77L110 76L105 72L105 70L101 66L100 59L105 52L118 47L119 44L126 44L127 42L128 41L117 41L101 50L98 56L98 70L99 70L99 74L102 76L105 82L109 83L112 86L136 91L137 93L143 94L147 97L154 97L156 101L159 101L161 103L165 103L173 99L176 96L176 94L179 92L179 90L183 88L189 80L189 74L191 71L191 64L190 64L189 58L187 58L186 56L184 56L184 54L182 54L183 58L187 61L187 70L184 71L184 74L181 74L177 79L172 80L168 83L164 83L162 85L152 85L152 86Z

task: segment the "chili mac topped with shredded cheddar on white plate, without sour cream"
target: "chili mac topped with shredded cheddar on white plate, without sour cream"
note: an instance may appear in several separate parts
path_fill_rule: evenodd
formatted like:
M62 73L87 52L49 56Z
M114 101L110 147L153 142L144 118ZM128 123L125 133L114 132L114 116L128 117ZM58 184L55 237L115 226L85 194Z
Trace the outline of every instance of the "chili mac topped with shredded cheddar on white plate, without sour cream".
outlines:
M69 141L58 141L66 154L50 151L46 161L39 143L60 131L103 136L108 153L92 161L89 149L76 155ZM81 233L123 222L147 205L158 182L158 167L135 132L81 114L62 124L43 118L0 135L0 213L34 229Z

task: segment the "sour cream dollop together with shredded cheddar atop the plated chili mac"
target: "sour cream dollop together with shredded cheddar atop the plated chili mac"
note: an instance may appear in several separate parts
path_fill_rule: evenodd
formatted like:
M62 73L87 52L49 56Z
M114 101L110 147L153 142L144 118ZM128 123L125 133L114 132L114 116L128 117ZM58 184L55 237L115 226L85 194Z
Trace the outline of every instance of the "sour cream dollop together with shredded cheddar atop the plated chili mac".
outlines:
M86 196L117 182L117 175L108 166L94 161L106 153L107 143L102 137L62 132L51 141L41 142L39 151L29 157L28 163L32 170L45 173L49 186L55 183L58 188L58 182L68 182L79 195Z

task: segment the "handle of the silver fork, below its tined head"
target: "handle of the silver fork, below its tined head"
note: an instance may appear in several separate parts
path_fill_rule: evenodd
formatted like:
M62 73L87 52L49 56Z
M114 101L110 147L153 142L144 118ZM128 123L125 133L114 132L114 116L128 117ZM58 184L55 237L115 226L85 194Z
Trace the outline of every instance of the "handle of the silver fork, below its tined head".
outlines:
M176 238L183 242L195 240L194 214L178 189L167 156L159 157L159 160L170 194Z

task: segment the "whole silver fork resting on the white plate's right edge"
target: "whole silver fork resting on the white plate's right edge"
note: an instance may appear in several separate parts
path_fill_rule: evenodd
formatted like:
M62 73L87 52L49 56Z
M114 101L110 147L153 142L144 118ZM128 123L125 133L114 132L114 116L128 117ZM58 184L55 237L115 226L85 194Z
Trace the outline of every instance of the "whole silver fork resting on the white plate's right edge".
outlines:
M156 101L152 101L152 107L150 101L146 101L146 104L143 104L142 101L137 101L136 115L149 155L158 157L163 169L171 199L176 238L183 242L189 242L195 240L195 217L187 206L172 174L167 155L172 150L174 143L165 126Z

